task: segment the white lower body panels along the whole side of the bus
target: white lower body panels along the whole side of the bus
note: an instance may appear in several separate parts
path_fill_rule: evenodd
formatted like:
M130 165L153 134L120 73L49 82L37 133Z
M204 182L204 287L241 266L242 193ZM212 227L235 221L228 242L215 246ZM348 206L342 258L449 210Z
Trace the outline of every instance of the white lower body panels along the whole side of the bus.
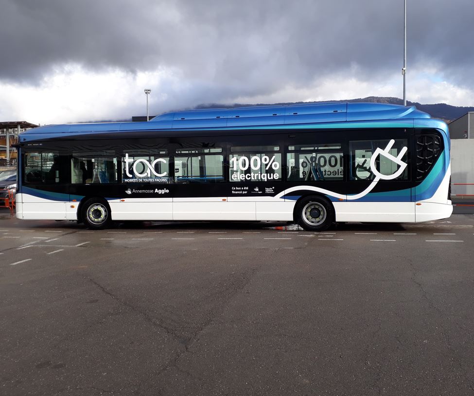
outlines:
M228 200L227 200L228 199ZM296 201L268 197L125 198L108 201L112 220L293 221ZM421 205L420 205L421 203ZM336 221L414 223L449 217L446 203L333 202ZM19 219L76 220L78 202L51 201L17 194Z

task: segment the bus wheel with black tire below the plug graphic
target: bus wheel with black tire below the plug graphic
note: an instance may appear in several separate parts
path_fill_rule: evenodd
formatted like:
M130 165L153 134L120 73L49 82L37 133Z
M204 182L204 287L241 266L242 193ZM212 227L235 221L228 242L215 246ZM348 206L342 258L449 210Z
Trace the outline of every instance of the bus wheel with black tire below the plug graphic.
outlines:
M295 221L306 231L325 231L334 223L334 207L325 198L301 199L295 210Z

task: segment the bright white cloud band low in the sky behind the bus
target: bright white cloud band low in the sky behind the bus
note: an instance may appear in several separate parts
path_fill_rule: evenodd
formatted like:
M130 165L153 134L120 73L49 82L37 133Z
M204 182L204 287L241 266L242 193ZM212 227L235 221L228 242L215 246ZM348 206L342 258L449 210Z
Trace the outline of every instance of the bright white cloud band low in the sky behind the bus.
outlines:
M101 72L79 65L56 67L38 85L0 82L0 119L50 124L87 120L128 119L144 115L144 88L151 88L150 115L194 107L203 103L277 103L403 95L401 73L387 78L363 80L351 66L345 73L326 75L305 86L277 84L254 89L245 82L237 86L186 79L182 72L159 69L129 73L118 69ZM446 81L434 67L413 69L407 75L407 99L421 103L474 105L473 90Z

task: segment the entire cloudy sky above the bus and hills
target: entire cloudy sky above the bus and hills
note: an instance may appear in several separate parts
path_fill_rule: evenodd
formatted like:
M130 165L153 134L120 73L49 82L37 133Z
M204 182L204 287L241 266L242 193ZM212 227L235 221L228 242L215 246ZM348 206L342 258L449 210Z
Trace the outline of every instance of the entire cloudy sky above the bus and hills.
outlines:
M473 0L407 0L407 99L474 106ZM403 0L0 0L0 121L403 96Z

